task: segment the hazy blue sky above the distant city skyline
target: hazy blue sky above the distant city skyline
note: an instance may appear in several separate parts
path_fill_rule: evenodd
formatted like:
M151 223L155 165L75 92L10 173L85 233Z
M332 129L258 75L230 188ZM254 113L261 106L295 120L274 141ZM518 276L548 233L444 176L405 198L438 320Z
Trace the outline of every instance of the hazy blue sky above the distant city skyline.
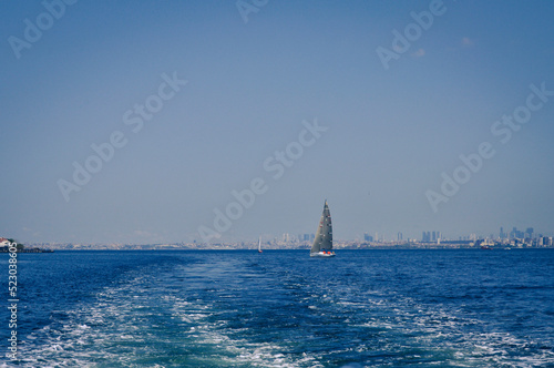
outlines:
M2 1L0 235L252 241L315 233L325 198L340 239L553 235L553 19L552 1Z

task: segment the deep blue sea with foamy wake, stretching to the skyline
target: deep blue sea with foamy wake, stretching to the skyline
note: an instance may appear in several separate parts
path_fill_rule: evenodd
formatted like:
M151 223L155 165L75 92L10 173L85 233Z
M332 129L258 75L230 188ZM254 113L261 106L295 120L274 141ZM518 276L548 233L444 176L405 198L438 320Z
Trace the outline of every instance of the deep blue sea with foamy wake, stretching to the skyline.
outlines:
M20 254L17 366L554 367L554 249L337 254Z

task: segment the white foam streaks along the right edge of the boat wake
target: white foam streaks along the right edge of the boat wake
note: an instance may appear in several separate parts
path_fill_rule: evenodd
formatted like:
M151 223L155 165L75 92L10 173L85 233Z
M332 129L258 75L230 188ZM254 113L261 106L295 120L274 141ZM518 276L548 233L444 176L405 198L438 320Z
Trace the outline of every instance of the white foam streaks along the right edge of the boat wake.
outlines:
M448 359L449 365L482 367L483 362L493 361L499 366L527 368L554 362L554 352L547 349L536 349L537 352L533 351L531 356L521 355L524 350L529 351L530 346L538 346L538 341L524 340L505 331L479 333L485 323L463 316L459 309L425 306L408 297L398 297L389 303L368 300L368 308L375 306L387 310L358 326L387 334L388 344L397 343L391 340L390 333L383 330L394 331L398 341L404 345L402 348L422 348L437 354L447 351L452 355ZM468 331L468 328L478 331ZM359 348L363 347L360 345Z

